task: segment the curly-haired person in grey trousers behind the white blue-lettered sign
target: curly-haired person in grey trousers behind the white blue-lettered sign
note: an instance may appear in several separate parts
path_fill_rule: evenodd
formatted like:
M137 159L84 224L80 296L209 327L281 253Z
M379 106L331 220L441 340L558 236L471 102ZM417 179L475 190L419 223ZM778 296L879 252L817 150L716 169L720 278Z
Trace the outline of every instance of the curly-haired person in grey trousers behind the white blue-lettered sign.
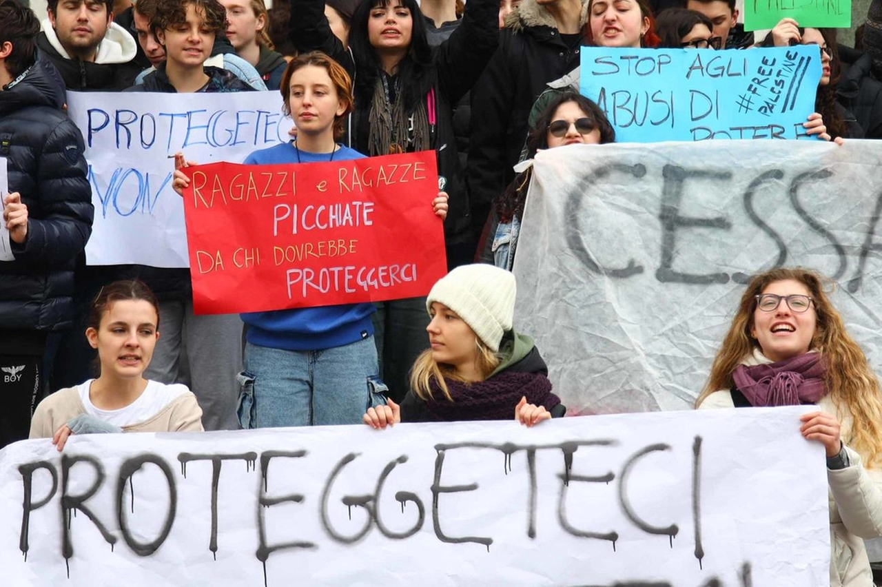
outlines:
M227 26L217 0L160 0L151 33L166 61L130 91L227 93L253 88L230 71L206 65L214 38ZM162 383L189 383L205 411L208 430L235 430L235 374L242 368L243 323L239 316L196 316L190 270L142 268L143 279L160 299L165 334L147 376ZM188 375L189 374L189 375Z

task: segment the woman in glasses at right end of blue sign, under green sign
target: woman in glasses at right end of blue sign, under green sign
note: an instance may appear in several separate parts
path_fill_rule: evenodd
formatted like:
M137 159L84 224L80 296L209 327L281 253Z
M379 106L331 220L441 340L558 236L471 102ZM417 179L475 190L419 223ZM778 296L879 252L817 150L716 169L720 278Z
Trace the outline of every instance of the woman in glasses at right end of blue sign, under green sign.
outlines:
M863 128L857 123L855 115L836 101L836 85L841 72L836 29L803 28L794 19L781 19L762 44L764 47L817 45L820 48L822 73L815 110L824 117L827 133L837 142L841 142L841 138L863 138Z

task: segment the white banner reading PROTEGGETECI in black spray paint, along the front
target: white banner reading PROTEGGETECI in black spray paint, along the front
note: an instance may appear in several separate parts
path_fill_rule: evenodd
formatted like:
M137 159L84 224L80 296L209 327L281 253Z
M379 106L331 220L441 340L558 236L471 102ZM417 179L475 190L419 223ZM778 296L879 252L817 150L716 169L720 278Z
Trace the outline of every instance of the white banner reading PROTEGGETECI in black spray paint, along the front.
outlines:
M805 410L19 442L0 568L16 587L826 587Z

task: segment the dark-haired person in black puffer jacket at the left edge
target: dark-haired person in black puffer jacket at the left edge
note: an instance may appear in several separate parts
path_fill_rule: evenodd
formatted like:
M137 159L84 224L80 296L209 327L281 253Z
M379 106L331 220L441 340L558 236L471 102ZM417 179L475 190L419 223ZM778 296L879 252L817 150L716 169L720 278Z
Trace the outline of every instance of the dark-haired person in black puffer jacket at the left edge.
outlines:
M35 61L39 31L33 11L0 0L0 448L27 438L46 337L71 324L73 264L92 232L82 134L57 71Z

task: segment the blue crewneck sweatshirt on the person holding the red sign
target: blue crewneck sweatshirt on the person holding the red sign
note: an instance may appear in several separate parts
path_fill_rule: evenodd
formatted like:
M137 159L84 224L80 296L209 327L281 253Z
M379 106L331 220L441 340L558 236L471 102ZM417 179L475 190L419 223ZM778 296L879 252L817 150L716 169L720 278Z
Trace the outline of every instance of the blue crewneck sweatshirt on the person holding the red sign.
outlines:
M279 163L318 163L331 160L331 153L298 151L291 143L281 143L268 149L252 152L246 165L274 165ZM363 159L364 155L340 145L333 160ZM249 312L242 315L248 324L245 338L252 345L269 346L287 351L320 351L334 346L354 343L374 333L370 303L297 308L272 312Z

